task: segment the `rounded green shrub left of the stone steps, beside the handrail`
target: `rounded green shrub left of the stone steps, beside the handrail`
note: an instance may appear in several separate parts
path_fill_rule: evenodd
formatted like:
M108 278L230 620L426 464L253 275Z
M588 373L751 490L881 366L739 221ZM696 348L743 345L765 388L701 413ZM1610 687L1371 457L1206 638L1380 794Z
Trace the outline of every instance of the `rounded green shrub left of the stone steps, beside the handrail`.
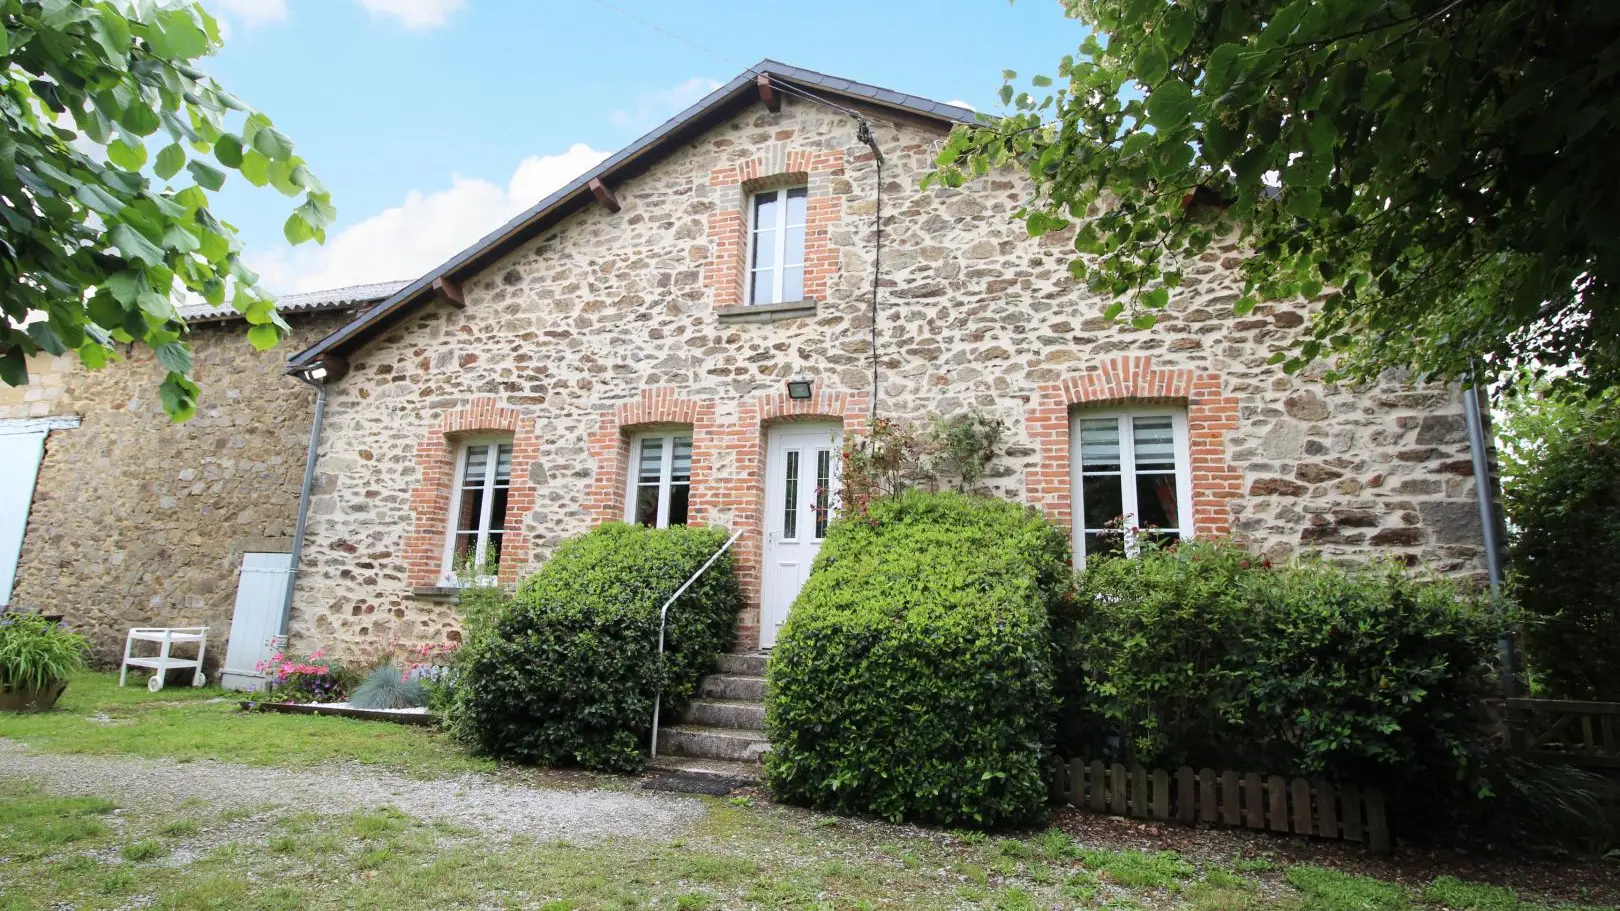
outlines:
M462 650L455 731L499 759L627 772L663 687L674 718L731 647L742 592L731 554L658 611L726 541L721 528L608 524L557 548Z

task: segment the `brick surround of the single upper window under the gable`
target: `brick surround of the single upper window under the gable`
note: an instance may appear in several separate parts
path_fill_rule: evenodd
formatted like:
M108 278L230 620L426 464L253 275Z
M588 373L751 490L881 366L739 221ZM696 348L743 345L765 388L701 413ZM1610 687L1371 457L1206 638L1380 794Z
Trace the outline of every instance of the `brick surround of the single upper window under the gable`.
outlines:
M789 149L784 144L710 172L710 186L719 191L719 209L708 217L710 251L703 263L703 285L714 293L714 306L740 306L747 302L748 198L781 186L808 188L805 300L826 300L828 284L838 272L831 232L844 211L842 198L833 195L833 178L842 175L842 149Z

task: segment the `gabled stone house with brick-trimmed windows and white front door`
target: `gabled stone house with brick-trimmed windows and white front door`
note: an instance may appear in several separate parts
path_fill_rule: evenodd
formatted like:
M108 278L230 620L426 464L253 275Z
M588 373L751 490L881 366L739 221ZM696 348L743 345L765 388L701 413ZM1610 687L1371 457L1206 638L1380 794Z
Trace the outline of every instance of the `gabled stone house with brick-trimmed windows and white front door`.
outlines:
M293 357L329 396L295 647L455 639L457 571L608 520L740 530L770 647L872 415L1003 420L988 488L1077 559L1129 515L1482 569L1458 387L1270 366L1307 308L1234 318L1231 250L1157 327L1105 321L1021 175L919 190L969 117L766 60Z

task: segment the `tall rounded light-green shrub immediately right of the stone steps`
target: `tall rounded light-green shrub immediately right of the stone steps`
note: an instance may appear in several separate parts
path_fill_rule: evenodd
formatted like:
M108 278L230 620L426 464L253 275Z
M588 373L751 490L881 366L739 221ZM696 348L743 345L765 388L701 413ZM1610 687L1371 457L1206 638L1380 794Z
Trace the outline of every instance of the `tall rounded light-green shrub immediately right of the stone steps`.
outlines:
M1043 517L995 499L914 491L836 520L771 655L778 798L946 825L1038 817L1066 559Z

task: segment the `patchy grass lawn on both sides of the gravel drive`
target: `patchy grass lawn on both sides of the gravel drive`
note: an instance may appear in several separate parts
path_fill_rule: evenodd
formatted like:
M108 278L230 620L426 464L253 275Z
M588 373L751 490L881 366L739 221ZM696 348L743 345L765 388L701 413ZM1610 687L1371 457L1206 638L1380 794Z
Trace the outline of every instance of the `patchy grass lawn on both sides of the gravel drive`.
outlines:
M217 691L147 694L115 682L81 676L58 712L0 716L0 736L47 754L209 757L309 767L311 778L329 762L418 778L491 768L418 728L238 715L233 700L212 702ZM390 806L332 812L288 791L230 807L206 796L154 804L112 783L84 783L83 791L47 794L0 768L0 911L1549 908L1505 887L1443 875L1393 883L1288 864L1265 849L1223 858L1119 851L1058 830L951 833L834 819L763 798L698 798L701 817L674 838L570 845L505 838Z

